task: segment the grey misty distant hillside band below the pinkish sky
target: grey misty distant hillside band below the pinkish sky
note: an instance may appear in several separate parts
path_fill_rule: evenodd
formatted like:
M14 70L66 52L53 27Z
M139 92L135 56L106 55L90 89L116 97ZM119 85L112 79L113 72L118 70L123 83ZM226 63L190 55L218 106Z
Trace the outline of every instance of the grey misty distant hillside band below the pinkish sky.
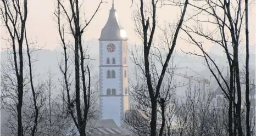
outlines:
M84 42L84 45L88 47L88 52L90 54L91 64L93 65L92 75L98 74L98 65L99 65L99 42L97 39L90 39ZM129 48L133 48L133 44L129 44ZM37 61L34 63L34 72L36 80L42 80L46 76L46 72L48 69L51 69L51 72L56 74L56 80L58 82L58 78L62 77L62 73L59 70L59 63L63 59L63 49L58 47L54 50L38 50L33 54L33 57L37 57ZM210 53L213 56L213 59L216 61L220 67L222 67L223 71L226 73L226 59L225 57L221 56L222 54L215 54L216 52L221 52L221 48L218 46L213 47ZM252 51L251 51L252 52ZM24 52L26 53L26 52ZM6 51L1 52L1 63L7 60L8 53ZM72 57L72 56L70 56ZM244 61L244 56L241 56L241 61ZM70 58L73 61L73 58ZM74 61L73 61L74 62ZM174 65L176 67L188 67L189 69L181 69L177 70L176 72L187 74L188 76L196 76L196 77L204 77L210 78L212 75L210 71L207 69L207 66L204 64L204 59L194 55L187 55L184 53L176 52L174 56ZM255 69L255 53L252 52L250 58L250 64L253 66L252 69ZM132 80L135 65L129 59L129 73L130 73L130 80ZM161 67L159 65L159 67ZM73 69L73 68L72 68ZM176 81L187 81L186 78L176 76ZM213 77L212 77L213 78ZM212 80L212 79L211 79ZM183 89L182 89L183 90ZM183 92L183 91L182 91Z

